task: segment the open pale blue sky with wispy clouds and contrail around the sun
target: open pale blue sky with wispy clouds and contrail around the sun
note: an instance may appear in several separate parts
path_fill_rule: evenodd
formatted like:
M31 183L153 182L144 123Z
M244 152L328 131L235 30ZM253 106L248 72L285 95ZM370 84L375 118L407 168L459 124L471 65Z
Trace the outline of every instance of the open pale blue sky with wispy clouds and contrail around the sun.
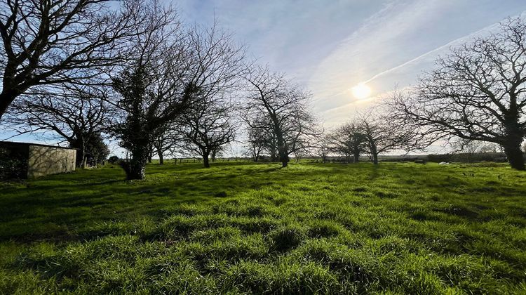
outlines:
M170 0L164 0L170 4ZM395 87L414 85L438 55L498 22L526 17L525 0L180 0L187 23L234 33L249 55L311 91L326 129ZM351 89L366 83L370 98ZM6 137L0 134L0 140ZM30 136L18 141L38 141Z

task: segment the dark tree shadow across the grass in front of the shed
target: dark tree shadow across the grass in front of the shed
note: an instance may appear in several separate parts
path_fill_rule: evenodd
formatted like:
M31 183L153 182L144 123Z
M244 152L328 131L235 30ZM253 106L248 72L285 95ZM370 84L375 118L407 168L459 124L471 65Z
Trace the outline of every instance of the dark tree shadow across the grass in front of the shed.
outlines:
M79 170L27 181L2 190L0 241L49 237L75 239L93 223L136 216L159 218L163 208L232 197L270 183L286 183L317 171L281 169L278 164L200 163L147 166L144 181L125 181L116 166Z

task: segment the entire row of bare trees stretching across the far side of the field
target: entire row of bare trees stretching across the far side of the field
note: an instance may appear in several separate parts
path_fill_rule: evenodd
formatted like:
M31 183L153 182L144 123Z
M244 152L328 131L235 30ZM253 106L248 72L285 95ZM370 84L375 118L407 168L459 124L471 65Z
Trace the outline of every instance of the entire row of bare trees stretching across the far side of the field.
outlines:
M454 49L410 91L323 135L311 94L248 63L217 25L184 25L156 0L108 3L0 4L2 124L58 134L79 149L79 164L105 157L94 149L102 136L116 138L130 155L129 179L144 178L154 152L161 163L170 152L200 155L209 166L242 126L255 161L265 155L283 167L314 149L355 162L365 153L377 164L382 152L461 138L501 145L511 166L524 169L522 20Z

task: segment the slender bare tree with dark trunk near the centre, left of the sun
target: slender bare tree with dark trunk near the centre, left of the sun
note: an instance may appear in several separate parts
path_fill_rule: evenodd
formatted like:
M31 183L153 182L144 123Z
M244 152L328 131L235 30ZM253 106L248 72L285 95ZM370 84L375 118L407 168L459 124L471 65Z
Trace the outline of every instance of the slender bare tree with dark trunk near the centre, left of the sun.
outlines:
M290 154L314 147L313 137L321 134L309 110L309 93L265 67L252 67L246 79L249 103L245 117L256 118L249 119L253 128L271 131L279 161L286 167Z

